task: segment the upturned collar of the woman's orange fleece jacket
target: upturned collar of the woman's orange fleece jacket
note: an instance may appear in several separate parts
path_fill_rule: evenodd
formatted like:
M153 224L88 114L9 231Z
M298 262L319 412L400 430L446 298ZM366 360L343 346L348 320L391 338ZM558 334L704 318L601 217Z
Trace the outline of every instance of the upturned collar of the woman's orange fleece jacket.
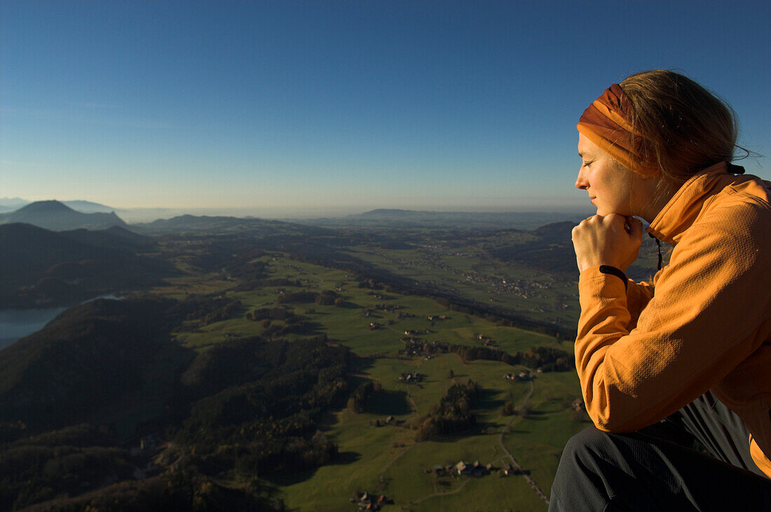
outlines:
M675 192L662 208L648 233L666 243L678 243L702 211L704 202L725 187L733 178L726 162L720 162L692 176Z

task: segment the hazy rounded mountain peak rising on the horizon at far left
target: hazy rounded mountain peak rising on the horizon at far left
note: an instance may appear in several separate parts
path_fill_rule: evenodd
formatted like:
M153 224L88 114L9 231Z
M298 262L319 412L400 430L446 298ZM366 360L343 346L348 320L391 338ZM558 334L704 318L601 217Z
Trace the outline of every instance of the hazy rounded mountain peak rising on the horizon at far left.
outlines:
M126 223L110 213L82 213L59 201L36 201L15 212L0 214L0 224L26 223L54 231L66 229L106 229L126 226Z

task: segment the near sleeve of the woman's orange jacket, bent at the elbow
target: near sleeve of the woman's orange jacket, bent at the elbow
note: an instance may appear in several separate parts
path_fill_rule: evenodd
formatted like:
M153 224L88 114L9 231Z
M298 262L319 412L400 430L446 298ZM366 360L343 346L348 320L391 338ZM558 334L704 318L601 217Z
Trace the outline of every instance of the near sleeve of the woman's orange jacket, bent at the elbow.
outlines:
M709 219L692 226L631 330L629 303L647 290L629 296L599 267L581 273L576 368L598 428L632 431L662 420L757 348L752 333L768 315L761 298L769 288L759 238Z

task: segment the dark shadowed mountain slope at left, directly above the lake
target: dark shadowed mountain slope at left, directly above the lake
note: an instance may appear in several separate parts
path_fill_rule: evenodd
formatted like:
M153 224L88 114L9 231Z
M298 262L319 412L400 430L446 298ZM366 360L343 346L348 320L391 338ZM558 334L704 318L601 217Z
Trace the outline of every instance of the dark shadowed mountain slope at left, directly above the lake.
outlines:
M69 305L173 276L169 263L136 255L153 243L137 237L120 227L57 233L0 225L0 308Z

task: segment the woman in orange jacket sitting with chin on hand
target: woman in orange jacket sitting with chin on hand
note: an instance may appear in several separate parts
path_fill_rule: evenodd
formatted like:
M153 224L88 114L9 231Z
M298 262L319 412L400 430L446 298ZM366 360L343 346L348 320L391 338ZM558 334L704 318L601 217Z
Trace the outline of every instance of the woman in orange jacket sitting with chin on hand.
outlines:
M771 184L734 176L736 120L699 84L631 75L577 125L575 358L595 427L564 449L550 510L771 510ZM674 245L651 283L625 270ZM699 450L692 448L699 447Z

